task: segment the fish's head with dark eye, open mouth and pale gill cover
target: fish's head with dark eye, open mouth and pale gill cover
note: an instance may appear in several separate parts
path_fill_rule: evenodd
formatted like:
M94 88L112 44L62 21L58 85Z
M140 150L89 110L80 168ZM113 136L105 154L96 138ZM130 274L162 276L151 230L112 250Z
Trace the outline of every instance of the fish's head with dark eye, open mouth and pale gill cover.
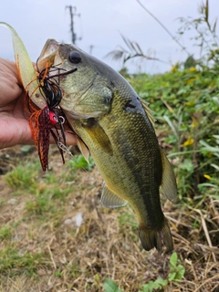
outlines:
M48 39L37 60L41 71L49 68L63 91L59 106L74 119L97 118L110 111L113 86L102 63L76 46ZM72 72L76 68L77 70ZM68 74L69 72L69 74ZM58 76L59 75L59 76Z

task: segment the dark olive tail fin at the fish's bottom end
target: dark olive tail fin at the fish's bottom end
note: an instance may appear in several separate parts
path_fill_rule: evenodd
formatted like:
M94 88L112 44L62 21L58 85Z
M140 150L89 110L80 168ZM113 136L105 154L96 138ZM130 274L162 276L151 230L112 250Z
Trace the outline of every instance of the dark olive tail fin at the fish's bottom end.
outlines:
M156 247L159 252L162 252L162 245L164 244L166 245L167 251L172 252L172 235L165 217L161 230L149 229L147 227L140 226L139 235L141 245L145 250L151 250L151 248Z

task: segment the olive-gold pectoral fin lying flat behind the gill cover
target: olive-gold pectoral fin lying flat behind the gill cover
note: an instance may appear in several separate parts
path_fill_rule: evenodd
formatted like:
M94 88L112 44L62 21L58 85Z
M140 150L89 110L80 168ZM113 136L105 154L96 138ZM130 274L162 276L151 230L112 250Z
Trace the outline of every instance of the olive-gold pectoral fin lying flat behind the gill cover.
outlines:
M96 143L99 148L112 156L112 146L108 135L105 130L99 125L99 122L94 119L89 119L88 123L83 125L89 137Z

